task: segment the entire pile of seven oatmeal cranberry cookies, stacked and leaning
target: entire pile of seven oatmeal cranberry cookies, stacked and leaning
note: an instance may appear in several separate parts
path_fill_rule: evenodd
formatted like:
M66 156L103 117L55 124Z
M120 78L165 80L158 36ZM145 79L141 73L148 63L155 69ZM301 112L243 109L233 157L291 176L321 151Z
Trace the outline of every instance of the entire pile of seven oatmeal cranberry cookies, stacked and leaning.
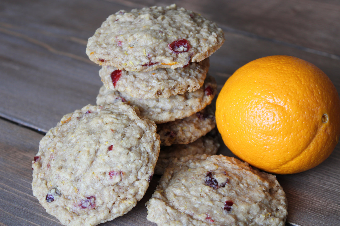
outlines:
M213 155L208 57L223 41L215 23L176 5L109 16L86 49L102 65L98 105L63 116L32 162L32 191L47 212L67 226L113 220L155 172L163 176L147 219L159 226L283 226L287 200L275 176Z

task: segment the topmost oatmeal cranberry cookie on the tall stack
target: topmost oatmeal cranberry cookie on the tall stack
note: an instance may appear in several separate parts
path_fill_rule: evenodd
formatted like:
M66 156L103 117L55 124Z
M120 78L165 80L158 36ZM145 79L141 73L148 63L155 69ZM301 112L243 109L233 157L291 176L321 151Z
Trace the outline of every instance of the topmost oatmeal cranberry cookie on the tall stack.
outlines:
M153 71L199 62L223 42L224 33L216 23L172 4L109 16L88 39L86 54L99 65Z

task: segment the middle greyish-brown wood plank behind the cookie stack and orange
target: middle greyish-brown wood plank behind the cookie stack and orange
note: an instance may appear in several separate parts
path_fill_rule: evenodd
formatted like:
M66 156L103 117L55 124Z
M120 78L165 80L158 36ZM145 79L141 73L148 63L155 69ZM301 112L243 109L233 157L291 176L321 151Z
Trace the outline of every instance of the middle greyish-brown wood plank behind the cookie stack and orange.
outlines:
M138 1L0 4L7 8L0 23L0 116L41 131L53 127L64 114L95 103L102 83L99 67L85 54L86 39L112 11L141 7ZM55 11L64 16L57 17ZM226 42L211 57L210 74L219 84L246 62L276 54L306 59L339 84L339 60L267 39L233 32L225 35Z

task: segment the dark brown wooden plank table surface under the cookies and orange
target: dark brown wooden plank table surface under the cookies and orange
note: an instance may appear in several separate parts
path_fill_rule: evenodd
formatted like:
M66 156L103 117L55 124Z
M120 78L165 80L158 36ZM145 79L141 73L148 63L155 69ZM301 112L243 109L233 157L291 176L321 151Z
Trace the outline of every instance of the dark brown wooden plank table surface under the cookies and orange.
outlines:
M210 57L219 89L243 64L291 55L322 69L340 93L340 2L336 0L1 0L0 225L60 225L32 195L31 161L61 117L95 104L100 67L87 39L120 9L176 3L217 22L225 43ZM219 153L232 155L222 145ZM340 225L340 145L306 172L277 175L288 199L287 225ZM145 203L102 225L155 225Z

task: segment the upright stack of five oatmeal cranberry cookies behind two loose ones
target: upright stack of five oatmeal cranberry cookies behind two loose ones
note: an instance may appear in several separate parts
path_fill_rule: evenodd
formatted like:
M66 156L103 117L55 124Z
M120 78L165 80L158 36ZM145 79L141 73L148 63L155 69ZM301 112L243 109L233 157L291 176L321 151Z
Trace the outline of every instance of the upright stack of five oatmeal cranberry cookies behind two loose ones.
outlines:
M119 11L89 38L86 54L102 65L97 105L128 102L157 125L155 173L175 157L217 152L209 106L217 85L207 72L223 42L216 23L174 4Z

